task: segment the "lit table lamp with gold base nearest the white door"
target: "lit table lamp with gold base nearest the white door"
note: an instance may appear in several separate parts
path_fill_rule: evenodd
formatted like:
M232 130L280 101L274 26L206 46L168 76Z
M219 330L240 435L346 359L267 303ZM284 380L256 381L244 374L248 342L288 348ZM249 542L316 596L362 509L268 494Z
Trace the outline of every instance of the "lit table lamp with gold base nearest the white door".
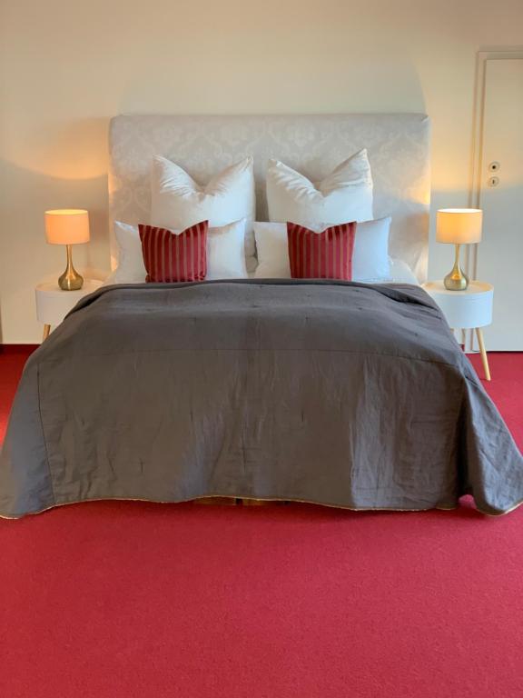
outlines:
M452 271L443 283L449 291L464 291L469 278L459 266L459 247L462 244L479 243L483 212L479 208L442 208L437 214L436 240L456 245L456 257Z

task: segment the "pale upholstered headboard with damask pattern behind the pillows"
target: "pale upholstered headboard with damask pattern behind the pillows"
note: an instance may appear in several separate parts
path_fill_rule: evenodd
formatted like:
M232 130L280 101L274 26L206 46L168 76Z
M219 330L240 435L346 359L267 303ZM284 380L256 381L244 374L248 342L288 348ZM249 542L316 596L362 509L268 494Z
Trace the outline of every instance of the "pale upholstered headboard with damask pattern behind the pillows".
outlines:
M254 158L258 220L267 220L265 168L277 158L321 179L360 148L369 151L374 216L392 216L390 254L427 276L429 117L419 114L189 116L121 115L110 132L109 196L113 221L148 222L153 155L206 182L245 155Z

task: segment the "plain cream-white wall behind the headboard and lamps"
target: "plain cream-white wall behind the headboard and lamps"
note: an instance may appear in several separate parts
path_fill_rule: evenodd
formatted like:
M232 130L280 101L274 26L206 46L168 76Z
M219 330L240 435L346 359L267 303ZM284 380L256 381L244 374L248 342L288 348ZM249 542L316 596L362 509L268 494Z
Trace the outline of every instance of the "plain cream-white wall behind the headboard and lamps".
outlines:
M426 112L432 206L467 204L475 54L523 44L521 0L2 0L0 342L40 340L64 267L44 210L81 207L107 269L107 125L122 112ZM430 273L449 249L431 245Z

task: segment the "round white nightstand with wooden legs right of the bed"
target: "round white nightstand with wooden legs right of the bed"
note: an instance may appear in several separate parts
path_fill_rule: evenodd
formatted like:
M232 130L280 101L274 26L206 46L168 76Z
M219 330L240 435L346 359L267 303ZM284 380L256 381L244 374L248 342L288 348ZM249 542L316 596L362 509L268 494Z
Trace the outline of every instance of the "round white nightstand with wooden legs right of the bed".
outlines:
M452 329L476 331L485 378L489 381L490 369L481 327L492 322L494 286L471 281L465 291L449 291L442 281L429 281L422 287L439 305Z

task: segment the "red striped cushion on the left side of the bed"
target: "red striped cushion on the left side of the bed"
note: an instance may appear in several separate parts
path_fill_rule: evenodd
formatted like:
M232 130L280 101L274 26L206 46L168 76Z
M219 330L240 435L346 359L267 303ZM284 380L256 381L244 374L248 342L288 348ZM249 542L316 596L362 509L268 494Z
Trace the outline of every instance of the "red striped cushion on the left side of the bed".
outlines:
M174 234L166 228L140 224L147 283L203 281L207 275L207 230L202 221Z

